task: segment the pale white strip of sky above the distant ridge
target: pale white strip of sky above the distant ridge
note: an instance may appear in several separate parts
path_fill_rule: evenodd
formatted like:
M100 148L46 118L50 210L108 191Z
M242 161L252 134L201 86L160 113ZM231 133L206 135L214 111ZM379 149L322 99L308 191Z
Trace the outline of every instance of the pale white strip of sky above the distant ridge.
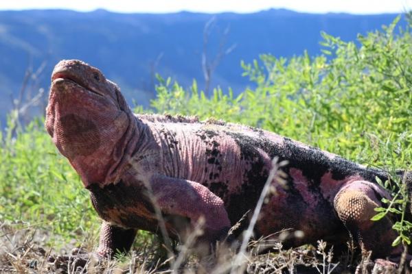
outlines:
M256 12L288 8L299 12L400 13L412 9L412 0L0 0L0 10L65 8L115 12Z

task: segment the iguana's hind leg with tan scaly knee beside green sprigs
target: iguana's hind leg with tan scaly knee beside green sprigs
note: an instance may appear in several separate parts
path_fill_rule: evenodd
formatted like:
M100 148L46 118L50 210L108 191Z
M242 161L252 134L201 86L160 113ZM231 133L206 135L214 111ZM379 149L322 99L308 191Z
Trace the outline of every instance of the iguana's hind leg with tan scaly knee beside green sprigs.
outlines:
M392 229L392 221L387 216L371 221L377 213L374 209L382 206L382 197L387 197L387 193L376 184L354 181L338 192L334 208L360 247L372 251L372 258L395 258L402 249L391 246L397 236Z

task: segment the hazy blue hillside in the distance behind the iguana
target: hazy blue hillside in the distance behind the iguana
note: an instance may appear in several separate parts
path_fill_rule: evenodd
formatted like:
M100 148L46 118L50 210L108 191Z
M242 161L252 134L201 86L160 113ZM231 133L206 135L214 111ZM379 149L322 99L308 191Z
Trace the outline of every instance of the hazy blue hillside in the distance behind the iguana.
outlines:
M201 69L203 29L213 14L117 14L96 10L27 10L0 12L0 116L10 109L10 95L17 96L25 69L45 61L38 87L48 88L49 75L60 59L77 58L98 66L117 82L128 98L148 103L153 97L151 71L172 76L187 86L192 79L204 86ZM236 47L222 58L211 86L247 85L240 60L250 62L260 53L291 56L308 49L320 52L321 30L343 40L379 29L396 14L301 14L268 10L254 14L216 14L208 54L214 57L225 29L225 49Z

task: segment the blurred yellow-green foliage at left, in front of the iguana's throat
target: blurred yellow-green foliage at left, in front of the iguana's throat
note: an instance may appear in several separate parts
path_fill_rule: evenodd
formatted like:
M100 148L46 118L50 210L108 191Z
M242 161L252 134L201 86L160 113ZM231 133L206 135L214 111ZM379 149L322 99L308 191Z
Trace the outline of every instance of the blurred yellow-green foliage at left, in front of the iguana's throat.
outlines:
M8 133L0 144L0 223L45 228L67 239L97 227L100 221L87 190L54 147L43 122L34 120L15 138Z

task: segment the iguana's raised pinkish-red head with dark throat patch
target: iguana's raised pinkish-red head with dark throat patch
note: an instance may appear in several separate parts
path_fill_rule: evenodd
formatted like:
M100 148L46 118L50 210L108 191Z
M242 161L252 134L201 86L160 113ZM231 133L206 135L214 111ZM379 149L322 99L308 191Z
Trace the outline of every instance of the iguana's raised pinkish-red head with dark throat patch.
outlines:
M45 127L85 186L119 180L130 155L133 119L119 88L98 69L79 60L54 67Z

